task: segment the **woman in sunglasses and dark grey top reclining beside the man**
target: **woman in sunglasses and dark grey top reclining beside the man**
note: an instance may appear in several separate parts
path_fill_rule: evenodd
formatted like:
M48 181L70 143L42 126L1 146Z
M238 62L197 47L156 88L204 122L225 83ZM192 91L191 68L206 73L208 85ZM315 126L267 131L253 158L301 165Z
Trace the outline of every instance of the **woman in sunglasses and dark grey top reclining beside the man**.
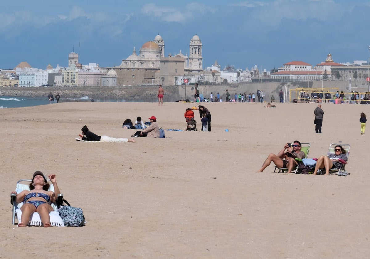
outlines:
M334 148L335 154L330 155L322 155L317 159L315 170L313 174L316 175L319 168L325 168L325 175L329 175L329 169L332 168L340 168L342 164L346 164L347 156L346 156L346 149L344 149L341 145L336 145Z

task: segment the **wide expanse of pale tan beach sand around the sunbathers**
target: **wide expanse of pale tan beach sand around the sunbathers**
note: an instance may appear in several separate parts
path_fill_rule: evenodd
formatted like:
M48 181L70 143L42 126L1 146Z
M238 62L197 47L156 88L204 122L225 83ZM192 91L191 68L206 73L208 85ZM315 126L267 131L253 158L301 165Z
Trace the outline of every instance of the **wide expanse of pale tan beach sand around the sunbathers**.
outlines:
M165 131L136 143L77 142L80 129L128 138L126 118L157 117L185 129L190 103L65 102L0 109L0 258L366 258L370 254L368 105L206 103L212 131ZM370 126L368 126L370 127ZM229 129L229 132L225 132ZM258 173L286 142L350 144L348 176ZM56 174L64 198L81 207L82 228L11 225L10 192L33 172Z

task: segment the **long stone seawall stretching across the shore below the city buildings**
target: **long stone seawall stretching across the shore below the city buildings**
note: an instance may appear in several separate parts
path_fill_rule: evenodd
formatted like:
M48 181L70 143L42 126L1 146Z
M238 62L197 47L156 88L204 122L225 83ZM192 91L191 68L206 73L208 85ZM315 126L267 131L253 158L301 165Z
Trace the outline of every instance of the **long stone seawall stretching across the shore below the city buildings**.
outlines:
M201 92L205 97L209 97L211 92L215 96L217 92L220 93L223 100L226 97L226 89L231 94L231 98L235 93L256 93L257 89L265 92L265 100L270 100L270 96L277 96L281 88L287 85L290 89L299 87L315 87L315 88L338 88L339 91L349 91L349 82L347 81L314 81L314 82L301 82L301 83L278 83L278 82L264 82L264 83L239 83L239 84L217 84L217 85L201 85ZM186 88L186 89L185 89ZM164 86L165 96L164 101L177 101L177 100L194 100L194 85L177 85L177 86ZM367 91L367 84L365 82L351 82L351 90L363 92ZM128 102L156 102L158 85L134 85L123 86L118 88L119 101ZM186 95L185 95L186 91ZM66 101L67 98L78 99L88 96L94 98L96 101L112 101L117 100L117 87L1 87L0 96L13 96L13 97L47 97L49 93L53 95L59 93L61 96L60 101Z

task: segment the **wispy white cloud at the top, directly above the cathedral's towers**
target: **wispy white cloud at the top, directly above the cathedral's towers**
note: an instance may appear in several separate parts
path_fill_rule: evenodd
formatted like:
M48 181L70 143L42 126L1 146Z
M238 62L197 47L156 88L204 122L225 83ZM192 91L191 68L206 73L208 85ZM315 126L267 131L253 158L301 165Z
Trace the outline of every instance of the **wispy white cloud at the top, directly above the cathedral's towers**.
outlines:
M207 7L202 3L189 3L185 7L164 7L157 4L145 4L141 13L153 16L161 21L184 23L194 18L199 13L215 13L215 9Z

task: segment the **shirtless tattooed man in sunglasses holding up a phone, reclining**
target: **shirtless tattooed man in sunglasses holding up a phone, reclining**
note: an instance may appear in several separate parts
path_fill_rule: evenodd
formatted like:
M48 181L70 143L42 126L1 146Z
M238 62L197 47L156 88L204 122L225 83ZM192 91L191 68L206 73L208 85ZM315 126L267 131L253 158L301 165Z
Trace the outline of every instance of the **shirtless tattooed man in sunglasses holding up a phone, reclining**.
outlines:
M293 168L298 164L295 159L302 159L306 157L305 152L301 151L301 148L302 145L297 140L293 141L291 146L290 143L286 143L284 148L280 150L277 155L271 153L266 158L258 172L263 172L263 170L265 170L265 168L268 167L271 162L274 162L277 167L288 168L288 173L292 172Z

